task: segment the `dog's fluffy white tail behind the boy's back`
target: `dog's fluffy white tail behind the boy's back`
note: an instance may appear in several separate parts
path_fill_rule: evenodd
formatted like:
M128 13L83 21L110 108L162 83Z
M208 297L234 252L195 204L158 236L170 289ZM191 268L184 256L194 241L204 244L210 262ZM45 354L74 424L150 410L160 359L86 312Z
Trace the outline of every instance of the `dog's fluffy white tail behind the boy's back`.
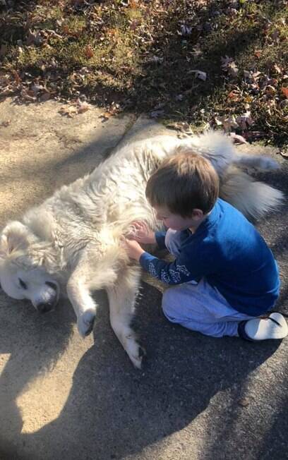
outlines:
M280 190L255 181L244 171L233 167L222 178L220 197L251 220L258 220L268 212L275 212L284 200Z

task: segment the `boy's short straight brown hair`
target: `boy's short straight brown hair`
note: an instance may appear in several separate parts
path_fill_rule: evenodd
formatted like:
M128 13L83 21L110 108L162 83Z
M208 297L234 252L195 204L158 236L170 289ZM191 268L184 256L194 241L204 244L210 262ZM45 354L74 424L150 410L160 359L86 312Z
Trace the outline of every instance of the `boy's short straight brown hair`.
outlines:
M185 152L165 159L146 186L150 205L165 206L173 214L191 217L194 209L207 214L219 193L219 178L201 155Z

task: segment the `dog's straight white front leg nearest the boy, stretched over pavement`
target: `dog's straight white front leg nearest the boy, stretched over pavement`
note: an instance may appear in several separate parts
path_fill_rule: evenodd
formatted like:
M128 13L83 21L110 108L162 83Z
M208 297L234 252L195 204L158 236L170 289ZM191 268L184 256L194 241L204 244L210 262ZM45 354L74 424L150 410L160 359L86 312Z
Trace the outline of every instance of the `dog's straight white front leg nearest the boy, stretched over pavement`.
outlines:
M140 369L145 352L136 340L136 334L131 329L136 295L138 293L140 268L125 267L113 287L107 289L110 309L110 322L116 337L133 365Z

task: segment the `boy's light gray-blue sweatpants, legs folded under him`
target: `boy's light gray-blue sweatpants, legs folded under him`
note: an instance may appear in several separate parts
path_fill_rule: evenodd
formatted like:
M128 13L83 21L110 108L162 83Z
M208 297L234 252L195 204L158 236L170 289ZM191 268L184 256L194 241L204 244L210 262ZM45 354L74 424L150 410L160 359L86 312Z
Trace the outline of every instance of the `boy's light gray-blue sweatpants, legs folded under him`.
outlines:
M169 229L165 244L174 256L179 254L179 231ZM238 336L240 321L253 316L234 310L222 294L205 278L173 286L163 294L162 309L171 322L212 337Z

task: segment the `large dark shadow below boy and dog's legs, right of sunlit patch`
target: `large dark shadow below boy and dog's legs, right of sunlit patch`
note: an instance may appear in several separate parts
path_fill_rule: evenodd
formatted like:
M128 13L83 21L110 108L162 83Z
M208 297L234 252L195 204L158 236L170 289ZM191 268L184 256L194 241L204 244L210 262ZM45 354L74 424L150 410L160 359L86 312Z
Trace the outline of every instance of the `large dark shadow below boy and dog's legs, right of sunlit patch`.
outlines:
M94 329L95 346L78 363L60 416L22 435L30 459L123 459L187 427L218 392L242 385L280 342L250 344L213 339L167 322L161 295L143 286L136 329L147 347L143 370L131 363L109 327L104 297ZM233 413L231 414L233 419ZM227 420L229 424L230 420ZM30 451L30 447L33 450Z

